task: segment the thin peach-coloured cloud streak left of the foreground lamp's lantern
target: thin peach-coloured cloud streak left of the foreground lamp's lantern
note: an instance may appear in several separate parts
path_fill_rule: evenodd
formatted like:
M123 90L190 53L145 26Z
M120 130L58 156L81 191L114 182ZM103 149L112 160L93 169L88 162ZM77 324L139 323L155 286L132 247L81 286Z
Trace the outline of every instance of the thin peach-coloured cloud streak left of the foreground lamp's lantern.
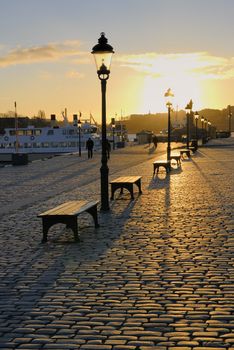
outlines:
M79 46L79 41L66 41L62 44L50 43L44 46L18 48L10 51L5 56L0 57L0 67L58 61L65 57L79 56L83 54L79 50Z

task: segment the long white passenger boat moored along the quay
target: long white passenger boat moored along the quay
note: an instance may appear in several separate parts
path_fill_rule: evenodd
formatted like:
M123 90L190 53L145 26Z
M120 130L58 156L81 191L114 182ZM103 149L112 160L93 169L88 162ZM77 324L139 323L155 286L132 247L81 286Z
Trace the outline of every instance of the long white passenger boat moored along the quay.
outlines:
M79 147L81 150L86 149L86 141L89 137L94 141L94 150L100 149L101 138L98 126L88 121L82 122L80 129L67 121L64 126L5 128L4 134L0 135L0 155L78 152Z

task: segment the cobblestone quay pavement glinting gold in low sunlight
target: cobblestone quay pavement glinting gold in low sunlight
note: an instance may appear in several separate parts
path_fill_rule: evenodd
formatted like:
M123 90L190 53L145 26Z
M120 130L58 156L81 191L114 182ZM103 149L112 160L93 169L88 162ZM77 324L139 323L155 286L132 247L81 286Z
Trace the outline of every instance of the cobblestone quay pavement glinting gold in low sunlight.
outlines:
M56 225L42 245L37 214L99 199L98 155L0 169L0 348L234 350L233 151L155 178L157 152L112 154L110 179L142 175L143 194L117 193L98 229L79 217L79 243Z

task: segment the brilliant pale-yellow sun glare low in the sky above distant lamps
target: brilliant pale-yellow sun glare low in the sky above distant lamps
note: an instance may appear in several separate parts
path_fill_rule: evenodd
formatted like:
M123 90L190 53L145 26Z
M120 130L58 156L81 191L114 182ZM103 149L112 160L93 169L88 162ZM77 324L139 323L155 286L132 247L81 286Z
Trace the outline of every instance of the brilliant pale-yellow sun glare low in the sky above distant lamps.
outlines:
M142 84L139 86L141 98L138 101L141 113L165 111L163 96L168 88L175 95L174 107L184 109L192 99L194 108L199 110L206 105L204 86L208 96L208 89L212 88L214 79L224 79L218 69L218 66L223 65L223 59L211 57L204 52L168 55L148 53L125 56L122 59L125 66L143 73ZM212 100L215 105L215 94Z

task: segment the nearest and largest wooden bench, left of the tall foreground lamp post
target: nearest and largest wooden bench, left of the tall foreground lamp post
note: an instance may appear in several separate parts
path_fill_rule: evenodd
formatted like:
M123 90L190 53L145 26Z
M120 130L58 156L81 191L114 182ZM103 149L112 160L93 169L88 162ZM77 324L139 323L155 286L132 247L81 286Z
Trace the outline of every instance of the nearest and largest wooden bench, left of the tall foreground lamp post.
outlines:
M83 212L92 215L95 227L99 227L97 217L98 201L70 201L63 203L53 209L47 210L38 215L42 218L43 238L42 243L47 242L47 234L51 226L62 223L66 224L67 228L72 229L75 241L79 241L77 217Z

